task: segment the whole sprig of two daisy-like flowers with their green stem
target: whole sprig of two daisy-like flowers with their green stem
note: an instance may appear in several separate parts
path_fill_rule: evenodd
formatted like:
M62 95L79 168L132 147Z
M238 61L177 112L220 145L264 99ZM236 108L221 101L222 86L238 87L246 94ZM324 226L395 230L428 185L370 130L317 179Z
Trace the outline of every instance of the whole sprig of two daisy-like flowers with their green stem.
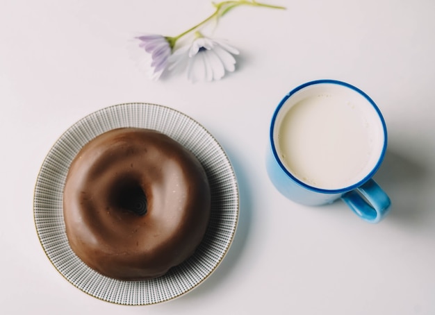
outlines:
M238 55L238 50L222 40L204 37L199 33L199 28L212 21L218 22L221 17L238 6L285 9L282 6L272 6L256 0L223 0L213 3L213 6L215 11L211 15L177 36L143 35L136 37L140 40L139 46L146 52L145 56L140 58L138 66L150 79L158 80L165 69L174 70L183 66L183 69L187 67L188 79L192 82L220 80L226 71L232 72L236 69L236 59L233 55ZM197 36L193 42L176 49L178 40L194 31Z

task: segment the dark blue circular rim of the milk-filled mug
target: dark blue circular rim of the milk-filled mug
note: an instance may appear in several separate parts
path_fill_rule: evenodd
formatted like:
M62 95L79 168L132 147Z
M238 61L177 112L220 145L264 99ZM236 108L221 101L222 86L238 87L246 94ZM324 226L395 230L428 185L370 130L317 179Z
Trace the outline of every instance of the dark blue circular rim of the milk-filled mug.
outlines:
M290 99L290 97L293 96L293 94L295 94L299 90L302 90L305 87L309 87L311 85L320 85L320 84L341 85L343 87L347 87L347 88L349 88L351 90L354 90L355 92L361 94L361 96L363 96L368 101L368 103L370 103L372 105L372 107L375 109L375 111L377 112L379 120L381 121L382 130L384 132L384 145L382 147L381 154L379 155L379 158L378 158L378 160L377 160L377 162L375 164L375 167L373 167L371 169L371 171L368 172L368 174L366 176L364 176L358 182L356 182L356 183L354 183L354 184L352 184L350 186L346 186L346 187L339 188L339 189L325 189L325 188L314 187L314 186L308 185L308 184L306 184L306 182L302 182L302 180L299 180L298 178L296 178L296 176L294 176L292 173L290 173L290 171L288 171L288 169L284 166L284 164L281 162L281 159L279 159L279 155L277 153L277 148L275 147L275 143L274 143L274 126L275 126L275 122L277 120L277 116L278 116L281 108L284 106L286 101L288 99ZM311 191L317 191L317 192L322 193L322 194L344 194L347 191L351 191L353 189L356 189L356 188L360 187L361 185L363 185L365 182L370 180L370 178L372 178L375 175L375 173L377 172L377 170L381 166L382 161L384 160L384 155L386 153L386 147L387 147L388 137L387 137L386 123L385 123L384 117L381 114L381 110L379 110L379 108L376 105L375 101L373 101L370 98L370 96L368 96L368 94L366 94L365 92L360 90L358 87L355 87L354 85L351 85L349 83L345 83L345 82L340 81L340 80L320 79L320 80L312 80L312 81L303 83L303 84L295 87L293 90L288 92L288 94L286 94L286 96L284 96L283 99L281 99L281 101L279 102L277 108L275 108L275 110L274 110L274 113L273 113L273 116L272 116L272 121L270 122L269 140L270 140L270 145L272 147L272 155L274 156L274 159L279 164L279 167L281 168L282 171L284 171L284 173L286 173L286 175L288 177L290 177L293 181L297 182L297 184L301 185L302 187L305 187L306 189L309 189Z

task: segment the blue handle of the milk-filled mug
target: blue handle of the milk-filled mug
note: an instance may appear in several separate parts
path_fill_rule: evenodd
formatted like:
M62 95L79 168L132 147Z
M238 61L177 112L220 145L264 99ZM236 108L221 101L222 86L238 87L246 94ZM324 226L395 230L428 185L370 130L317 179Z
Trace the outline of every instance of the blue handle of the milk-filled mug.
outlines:
M370 223L381 221L391 207L390 198L371 178L341 198L361 219Z

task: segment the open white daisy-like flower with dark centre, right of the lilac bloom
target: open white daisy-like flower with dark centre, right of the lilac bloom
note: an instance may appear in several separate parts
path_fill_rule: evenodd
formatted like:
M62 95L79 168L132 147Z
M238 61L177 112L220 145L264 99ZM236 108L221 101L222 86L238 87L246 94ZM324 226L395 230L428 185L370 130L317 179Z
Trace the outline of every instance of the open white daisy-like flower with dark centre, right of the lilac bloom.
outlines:
M169 58L168 69L186 69L188 79L192 82L198 80L220 80L225 71L236 69L238 50L222 40L212 40L208 37L197 37L192 44L177 49Z

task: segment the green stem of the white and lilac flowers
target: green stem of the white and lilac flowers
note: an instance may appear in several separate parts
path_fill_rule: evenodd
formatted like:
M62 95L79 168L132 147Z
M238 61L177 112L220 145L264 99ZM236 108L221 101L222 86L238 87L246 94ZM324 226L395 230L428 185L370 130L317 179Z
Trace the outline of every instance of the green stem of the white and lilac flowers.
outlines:
M170 43L171 49L174 48L175 43L177 40L179 40L184 35L187 35L188 33L194 31L195 29L199 28L199 26L202 26L206 24L207 22L211 21L213 18L220 18L223 15L227 14L229 10L232 10L233 8L236 8L236 6L259 6L263 8L272 8L272 9L280 9L285 10L286 8L284 6L272 6L267 3L260 3L256 2L255 0L233 0L233 1L221 1L218 3L213 3L213 6L215 6L215 12L213 12L212 15L204 19L202 22L199 22L195 26L192 26L187 31L184 31L183 33L175 36L175 37L166 37L166 40Z

